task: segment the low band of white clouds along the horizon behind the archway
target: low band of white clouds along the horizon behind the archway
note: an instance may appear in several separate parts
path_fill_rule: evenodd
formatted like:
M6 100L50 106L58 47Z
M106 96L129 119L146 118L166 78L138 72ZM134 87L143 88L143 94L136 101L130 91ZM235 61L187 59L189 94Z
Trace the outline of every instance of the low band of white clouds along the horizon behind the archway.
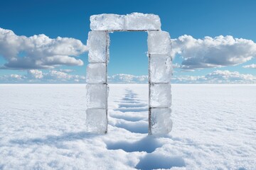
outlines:
M110 84L147 84L148 76L131 74L115 74L107 77ZM58 70L43 73L37 69L27 71L25 75L11 74L0 76L0 83L86 83L84 76L68 74ZM216 70L204 76L174 76L173 84L255 84L252 74L240 74L228 70Z

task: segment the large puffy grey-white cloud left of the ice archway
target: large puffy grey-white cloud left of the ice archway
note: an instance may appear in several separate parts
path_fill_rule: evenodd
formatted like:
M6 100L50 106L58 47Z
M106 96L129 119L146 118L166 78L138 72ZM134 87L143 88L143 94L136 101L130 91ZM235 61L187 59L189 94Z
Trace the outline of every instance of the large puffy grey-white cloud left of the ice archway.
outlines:
M74 38L48 38L16 35L0 28L0 55L7 61L1 69L53 69L60 65L82 65L76 57L87 51L87 46Z

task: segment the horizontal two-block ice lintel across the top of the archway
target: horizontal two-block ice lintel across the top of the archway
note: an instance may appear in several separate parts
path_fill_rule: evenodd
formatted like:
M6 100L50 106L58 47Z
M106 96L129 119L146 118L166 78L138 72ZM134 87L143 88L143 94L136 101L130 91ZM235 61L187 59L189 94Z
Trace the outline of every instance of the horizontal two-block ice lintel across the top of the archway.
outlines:
M146 31L161 30L159 16L151 13L130 13L117 15L102 13L90 16L91 30L114 31Z

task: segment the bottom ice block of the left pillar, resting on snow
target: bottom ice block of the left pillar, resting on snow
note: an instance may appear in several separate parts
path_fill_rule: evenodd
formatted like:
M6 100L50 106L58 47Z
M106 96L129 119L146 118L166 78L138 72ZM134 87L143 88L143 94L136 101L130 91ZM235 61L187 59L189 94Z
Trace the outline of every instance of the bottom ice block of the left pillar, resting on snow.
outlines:
M86 111L85 125L88 132L107 132L107 110L99 108L89 108Z

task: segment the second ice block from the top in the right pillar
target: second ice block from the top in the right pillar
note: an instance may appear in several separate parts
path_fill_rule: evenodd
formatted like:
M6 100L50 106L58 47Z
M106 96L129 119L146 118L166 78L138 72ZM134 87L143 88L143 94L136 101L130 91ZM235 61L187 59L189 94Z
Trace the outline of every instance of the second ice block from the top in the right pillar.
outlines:
M172 75L171 57L168 55L149 55L149 81L169 83Z

